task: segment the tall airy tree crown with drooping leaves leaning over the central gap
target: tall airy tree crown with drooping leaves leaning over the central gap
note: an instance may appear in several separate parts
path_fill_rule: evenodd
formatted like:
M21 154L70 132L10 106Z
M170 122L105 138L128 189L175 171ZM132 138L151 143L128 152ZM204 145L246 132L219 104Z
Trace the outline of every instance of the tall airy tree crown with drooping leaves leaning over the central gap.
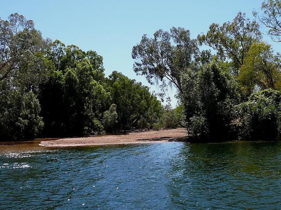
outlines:
M134 71L145 75L150 84L153 78L162 82L162 90L174 85L180 93L183 88L180 75L191 68L198 57L197 41L190 39L190 31L171 28L170 32L158 30L154 38L143 35L141 42L133 47Z

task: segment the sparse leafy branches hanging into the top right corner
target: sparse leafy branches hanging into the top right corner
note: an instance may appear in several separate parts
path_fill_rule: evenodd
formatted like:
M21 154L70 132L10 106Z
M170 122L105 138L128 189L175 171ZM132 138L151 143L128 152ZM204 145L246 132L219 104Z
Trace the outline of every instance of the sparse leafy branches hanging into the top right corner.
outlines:
M260 8L263 15L259 15L257 11L254 11L253 15L269 29L267 34L273 41L281 42L281 1L267 0L262 2Z

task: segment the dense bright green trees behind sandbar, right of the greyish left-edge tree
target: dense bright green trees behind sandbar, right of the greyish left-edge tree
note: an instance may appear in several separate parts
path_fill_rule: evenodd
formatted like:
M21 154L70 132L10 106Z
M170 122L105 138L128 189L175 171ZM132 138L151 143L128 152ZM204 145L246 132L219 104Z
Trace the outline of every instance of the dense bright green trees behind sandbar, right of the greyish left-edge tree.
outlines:
M105 78L102 57L95 51L83 52L75 45L65 47L58 40L51 46L46 62L49 79L39 92L43 134L112 132L116 129L115 112L119 129L138 127L140 119L145 119L146 128L152 126L161 106L148 87L117 72ZM54 100L56 103L52 103ZM114 107L108 110L110 104L116 105L115 111Z

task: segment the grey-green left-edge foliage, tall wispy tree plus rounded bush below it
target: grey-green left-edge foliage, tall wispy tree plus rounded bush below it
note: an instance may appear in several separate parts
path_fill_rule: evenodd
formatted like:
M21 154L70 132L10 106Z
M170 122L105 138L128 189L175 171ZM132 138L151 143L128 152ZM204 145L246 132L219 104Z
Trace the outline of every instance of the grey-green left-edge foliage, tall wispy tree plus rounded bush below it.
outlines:
M0 18L0 139L34 138L42 129L35 93L46 78L47 43L24 16Z

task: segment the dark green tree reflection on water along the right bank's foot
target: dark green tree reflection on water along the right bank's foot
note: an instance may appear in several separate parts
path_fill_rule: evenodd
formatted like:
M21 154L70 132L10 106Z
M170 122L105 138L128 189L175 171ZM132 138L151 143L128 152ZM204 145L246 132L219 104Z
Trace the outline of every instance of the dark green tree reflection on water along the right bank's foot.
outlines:
M205 173L259 173L280 161L280 142L188 144L182 148L194 170ZM278 164L277 164L278 165ZM196 171L196 174L199 173Z

